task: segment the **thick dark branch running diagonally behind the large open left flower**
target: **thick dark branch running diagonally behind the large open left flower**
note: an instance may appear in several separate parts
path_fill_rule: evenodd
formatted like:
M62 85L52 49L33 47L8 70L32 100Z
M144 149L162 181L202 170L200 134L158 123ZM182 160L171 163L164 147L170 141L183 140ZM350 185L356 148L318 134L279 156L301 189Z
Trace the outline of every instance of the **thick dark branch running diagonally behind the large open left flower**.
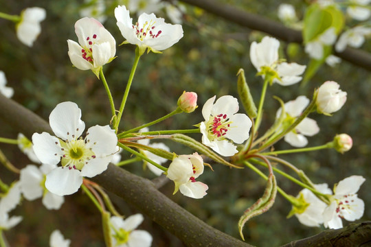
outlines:
M1 93L0 119L30 139L34 132L52 134L52 129L45 120ZM92 180L142 211L157 224L179 237L187 246L250 246L199 220L158 191L150 180L131 174L120 167L110 164L105 172Z

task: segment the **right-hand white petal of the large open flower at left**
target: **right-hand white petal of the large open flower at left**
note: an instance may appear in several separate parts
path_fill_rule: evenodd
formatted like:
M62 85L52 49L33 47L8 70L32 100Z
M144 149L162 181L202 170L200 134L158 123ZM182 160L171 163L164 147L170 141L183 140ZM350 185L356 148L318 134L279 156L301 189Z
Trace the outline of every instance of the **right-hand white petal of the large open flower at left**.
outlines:
M107 126L93 126L87 131L87 147L96 156L106 156L114 154L117 146L117 136L115 130Z

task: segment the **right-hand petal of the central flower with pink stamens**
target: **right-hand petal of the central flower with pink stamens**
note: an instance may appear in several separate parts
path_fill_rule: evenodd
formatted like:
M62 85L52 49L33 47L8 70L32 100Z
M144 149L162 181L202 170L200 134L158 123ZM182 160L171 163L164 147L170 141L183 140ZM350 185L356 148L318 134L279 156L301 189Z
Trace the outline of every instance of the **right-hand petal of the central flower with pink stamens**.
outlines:
M247 117L247 115L243 113L237 113L229 118L232 121L227 134L225 137L234 141L234 143L243 143L247 139L249 139L249 131L252 126L252 122Z

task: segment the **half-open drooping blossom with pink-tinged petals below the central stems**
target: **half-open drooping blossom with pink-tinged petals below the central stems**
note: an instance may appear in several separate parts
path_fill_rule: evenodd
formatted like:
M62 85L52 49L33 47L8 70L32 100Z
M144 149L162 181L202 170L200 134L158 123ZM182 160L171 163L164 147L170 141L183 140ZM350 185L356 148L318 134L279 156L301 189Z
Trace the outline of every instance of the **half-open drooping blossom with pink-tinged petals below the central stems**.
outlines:
M207 193L207 185L197 182L198 178L203 174L203 159L196 152L192 155L179 155L170 163L167 177L175 183L174 193L178 190L184 196L200 199Z

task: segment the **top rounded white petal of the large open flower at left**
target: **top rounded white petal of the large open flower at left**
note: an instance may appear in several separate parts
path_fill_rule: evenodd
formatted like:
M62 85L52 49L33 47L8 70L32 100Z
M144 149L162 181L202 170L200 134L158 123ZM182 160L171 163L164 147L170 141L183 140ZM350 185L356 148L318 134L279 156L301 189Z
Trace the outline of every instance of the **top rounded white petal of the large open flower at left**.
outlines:
M85 130L85 123L81 120L81 110L74 102L57 104L49 115L49 124L54 134L63 140L76 140Z

